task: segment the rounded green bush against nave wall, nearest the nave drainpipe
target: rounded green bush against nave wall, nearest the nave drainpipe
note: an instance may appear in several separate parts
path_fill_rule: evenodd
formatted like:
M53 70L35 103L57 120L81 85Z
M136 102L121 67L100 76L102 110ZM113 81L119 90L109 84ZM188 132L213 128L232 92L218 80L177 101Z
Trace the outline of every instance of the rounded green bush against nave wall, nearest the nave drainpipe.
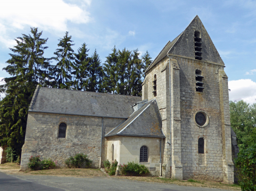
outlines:
M89 160L87 155L78 153L75 156L70 156L66 161L65 164L68 168L88 168L92 164L92 160Z

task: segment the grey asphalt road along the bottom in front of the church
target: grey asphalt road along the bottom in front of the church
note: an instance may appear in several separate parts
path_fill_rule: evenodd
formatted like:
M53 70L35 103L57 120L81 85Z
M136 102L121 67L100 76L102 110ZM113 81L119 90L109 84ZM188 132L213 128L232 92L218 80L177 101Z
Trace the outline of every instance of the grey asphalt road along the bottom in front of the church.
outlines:
M219 189L159 184L111 177L6 175L0 172L0 191L220 191Z

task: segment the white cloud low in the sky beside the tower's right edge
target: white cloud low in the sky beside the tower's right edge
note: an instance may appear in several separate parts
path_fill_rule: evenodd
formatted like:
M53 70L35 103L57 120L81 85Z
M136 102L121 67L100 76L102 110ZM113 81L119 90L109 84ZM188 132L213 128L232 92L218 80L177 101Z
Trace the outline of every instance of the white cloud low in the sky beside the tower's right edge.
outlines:
M251 79L231 80L228 82L229 100L244 100L247 103L256 103L256 82Z

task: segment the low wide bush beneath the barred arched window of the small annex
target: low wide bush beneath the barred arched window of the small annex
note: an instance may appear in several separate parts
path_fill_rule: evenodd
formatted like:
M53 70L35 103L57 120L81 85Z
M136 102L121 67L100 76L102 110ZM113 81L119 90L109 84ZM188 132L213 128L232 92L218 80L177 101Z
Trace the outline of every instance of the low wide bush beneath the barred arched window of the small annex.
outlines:
M132 175L141 175L149 173L148 168L144 164L139 164L138 162L128 162L128 164L119 164L118 168L120 168L123 175L126 175L127 172Z

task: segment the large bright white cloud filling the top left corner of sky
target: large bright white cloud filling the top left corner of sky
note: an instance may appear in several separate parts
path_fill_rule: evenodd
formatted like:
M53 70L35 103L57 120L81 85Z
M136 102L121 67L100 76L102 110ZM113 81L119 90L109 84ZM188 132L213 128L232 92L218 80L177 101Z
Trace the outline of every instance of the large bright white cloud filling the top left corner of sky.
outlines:
M24 27L40 30L67 31L67 22L84 24L92 21L86 8L90 0L79 1L79 6L63 0L8 0L0 6L0 42L10 47L15 44L8 34Z

